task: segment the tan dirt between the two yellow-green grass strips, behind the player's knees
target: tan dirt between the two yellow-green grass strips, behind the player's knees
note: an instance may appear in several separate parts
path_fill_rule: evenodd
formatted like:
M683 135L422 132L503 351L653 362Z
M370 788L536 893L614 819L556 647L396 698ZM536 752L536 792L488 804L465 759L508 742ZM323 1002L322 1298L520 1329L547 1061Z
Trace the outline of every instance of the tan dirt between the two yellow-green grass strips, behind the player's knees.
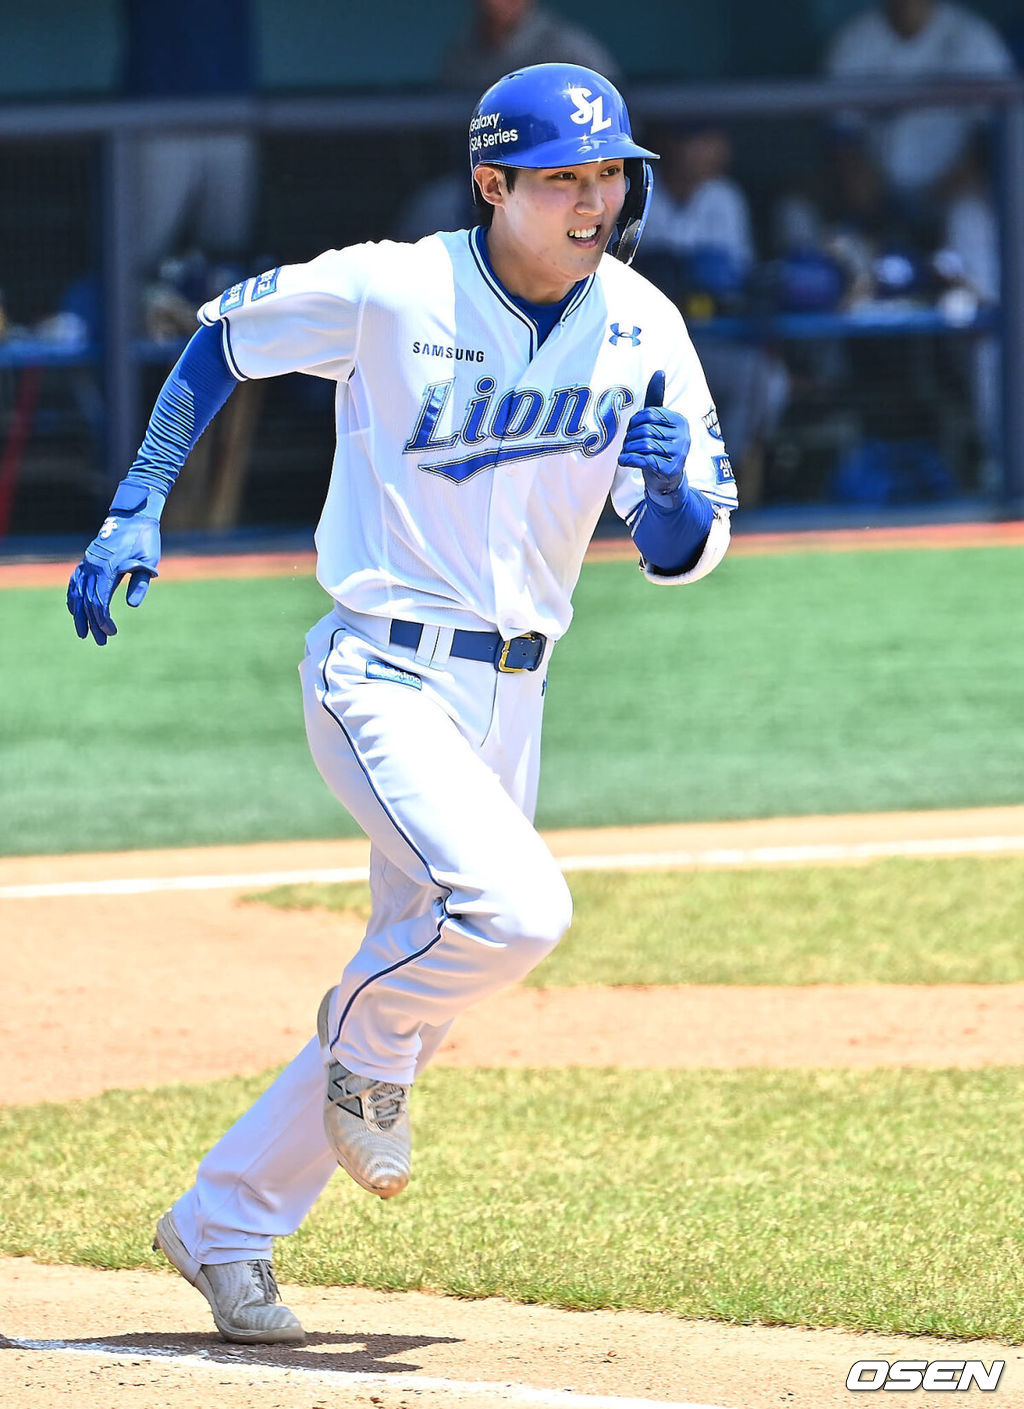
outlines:
M18 920L0 982L0 1105L283 1064L311 1036L324 989L361 938L344 917L241 906L224 892L162 895L159 906L145 896L34 900ZM227 992L197 1003L211 954ZM1024 983L513 988L465 1013L437 1062L1024 1065Z

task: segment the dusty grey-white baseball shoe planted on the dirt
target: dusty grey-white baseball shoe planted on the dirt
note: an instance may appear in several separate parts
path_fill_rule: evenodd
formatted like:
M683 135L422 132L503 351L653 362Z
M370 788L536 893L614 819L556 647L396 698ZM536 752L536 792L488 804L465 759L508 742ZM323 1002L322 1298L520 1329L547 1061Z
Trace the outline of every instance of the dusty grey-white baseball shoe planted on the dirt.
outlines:
M290 1308L282 1306L273 1267L265 1257L245 1262L197 1262L182 1243L175 1215L156 1224L154 1251L163 1253L186 1282L210 1302L224 1340L246 1344L306 1344L306 1333Z

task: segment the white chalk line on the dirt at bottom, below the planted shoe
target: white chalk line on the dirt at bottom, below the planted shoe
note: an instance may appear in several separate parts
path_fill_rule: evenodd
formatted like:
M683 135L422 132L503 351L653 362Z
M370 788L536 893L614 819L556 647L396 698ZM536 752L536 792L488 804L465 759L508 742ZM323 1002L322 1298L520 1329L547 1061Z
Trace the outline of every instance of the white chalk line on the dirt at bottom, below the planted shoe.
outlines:
M435 1375L377 1375L369 1370L321 1370L308 1365L265 1365L261 1361L234 1358L227 1348L221 1354L200 1351L194 1355L180 1354L172 1348L139 1350L125 1346L106 1346L103 1341L82 1343L69 1346L63 1340L18 1340L8 1339L11 1350L45 1350L69 1355L106 1355L114 1360L173 1360L177 1365L190 1368L203 1367L208 1370L217 1367L237 1367L252 1375L259 1370L268 1375L308 1375L311 1379L324 1379L335 1386L358 1385L387 1385L397 1394L417 1392L424 1389L438 1389L449 1395L489 1395L493 1399L504 1399L510 1403L525 1405L558 1405L565 1409L721 1409L718 1405L683 1403L679 1399L623 1399L617 1395L582 1395L575 1389L541 1389L538 1385L521 1385L514 1381L469 1381L442 1379ZM316 1347L311 1347L316 1351ZM301 1354L301 1350L297 1351Z

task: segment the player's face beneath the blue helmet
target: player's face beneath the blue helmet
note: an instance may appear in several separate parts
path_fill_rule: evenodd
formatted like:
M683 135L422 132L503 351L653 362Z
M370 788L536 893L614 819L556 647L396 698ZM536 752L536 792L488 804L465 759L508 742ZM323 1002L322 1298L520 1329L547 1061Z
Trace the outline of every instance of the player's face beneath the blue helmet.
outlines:
M534 303L556 303L592 275L613 235L625 200L621 159L520 168L507 190L489 168L482 189L494 204L487 252L510 293Z

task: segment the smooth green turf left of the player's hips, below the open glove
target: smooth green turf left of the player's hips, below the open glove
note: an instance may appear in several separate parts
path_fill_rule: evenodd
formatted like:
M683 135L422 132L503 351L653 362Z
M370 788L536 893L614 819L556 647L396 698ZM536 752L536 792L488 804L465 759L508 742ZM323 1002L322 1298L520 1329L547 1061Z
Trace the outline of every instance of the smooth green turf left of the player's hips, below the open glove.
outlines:
M63 592L0 592L0 851L355 836L303 733L321 602L306 578L159 581L99 648Z

